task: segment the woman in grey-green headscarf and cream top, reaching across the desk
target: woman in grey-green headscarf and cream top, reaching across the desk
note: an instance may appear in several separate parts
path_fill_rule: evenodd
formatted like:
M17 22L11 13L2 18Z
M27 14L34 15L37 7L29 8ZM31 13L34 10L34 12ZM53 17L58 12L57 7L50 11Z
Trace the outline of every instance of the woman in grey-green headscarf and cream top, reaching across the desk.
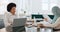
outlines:
M55 32L60 32L60 8L59 7L57 7L57 6L54 6L53 8L52 8L52 11L53 11L53 13L54 13L54 15L56 15L57 17L56 18L54 18L54 22L55 23L52 23L52 24L49 24L49 25L44 25L44 24L40 24L40 25L38 25L38 27L52 27L52 28L54 28L54 29L56 29L57 31L55 31ZM59 16L59 17L58 17Z

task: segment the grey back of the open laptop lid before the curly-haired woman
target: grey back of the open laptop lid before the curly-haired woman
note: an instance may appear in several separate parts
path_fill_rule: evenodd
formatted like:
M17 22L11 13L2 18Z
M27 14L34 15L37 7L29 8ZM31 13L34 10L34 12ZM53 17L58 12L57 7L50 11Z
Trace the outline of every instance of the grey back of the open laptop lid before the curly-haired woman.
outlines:
M25 25L26 21L27 21L27 18L16 18L13 21L13 27L23 26Z

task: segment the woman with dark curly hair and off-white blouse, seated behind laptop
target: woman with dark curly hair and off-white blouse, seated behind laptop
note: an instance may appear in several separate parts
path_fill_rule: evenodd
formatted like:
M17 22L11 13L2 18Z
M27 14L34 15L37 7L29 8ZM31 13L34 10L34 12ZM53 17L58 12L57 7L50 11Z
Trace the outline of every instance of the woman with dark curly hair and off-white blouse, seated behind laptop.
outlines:
M5 28L7 32L13 32L12 30L12 24L13 24L13 19L16 17L15 12L16 12L16 4L15 3L9 3L7 5L7 13L5 13Z

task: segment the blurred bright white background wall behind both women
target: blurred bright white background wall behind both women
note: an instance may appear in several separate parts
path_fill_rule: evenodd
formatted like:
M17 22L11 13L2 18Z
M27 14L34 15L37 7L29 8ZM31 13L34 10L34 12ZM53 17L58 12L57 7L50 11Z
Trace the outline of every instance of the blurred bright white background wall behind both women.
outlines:
M52 7L60 7L60 0L0 0L0 19L4 18L4 13L7 12L7 5L11 2L16 3L16 14L18 16L24 13L27 16L32 14L53 15ZM0 25L2 23L1 20Z

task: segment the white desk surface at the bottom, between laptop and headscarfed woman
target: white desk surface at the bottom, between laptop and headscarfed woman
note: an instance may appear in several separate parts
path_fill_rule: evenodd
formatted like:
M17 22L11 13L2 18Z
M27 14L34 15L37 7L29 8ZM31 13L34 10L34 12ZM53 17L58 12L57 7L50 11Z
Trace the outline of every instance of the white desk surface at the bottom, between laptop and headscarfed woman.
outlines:
M52 28L25 27L26 32L53 32Z

